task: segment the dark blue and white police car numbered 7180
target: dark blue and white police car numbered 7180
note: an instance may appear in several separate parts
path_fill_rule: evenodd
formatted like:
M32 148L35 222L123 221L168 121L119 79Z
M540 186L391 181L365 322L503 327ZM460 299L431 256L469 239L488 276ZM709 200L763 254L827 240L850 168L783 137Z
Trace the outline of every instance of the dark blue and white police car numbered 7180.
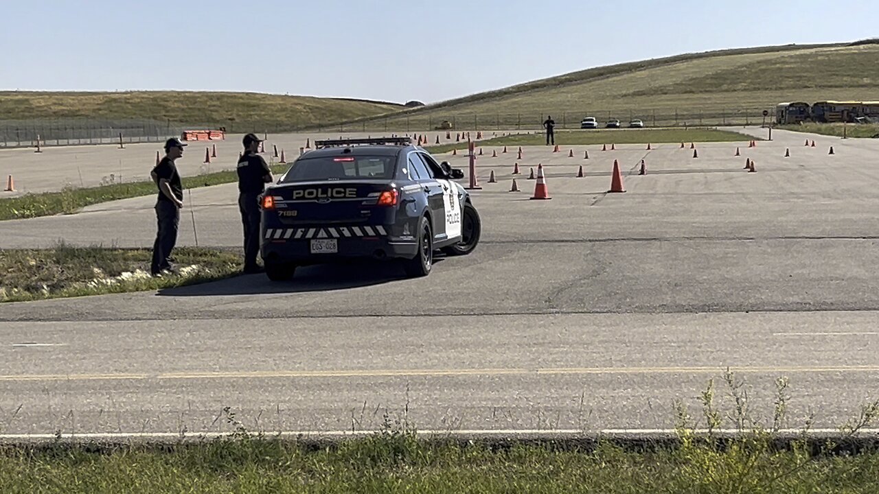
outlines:
M408 137L316 141L260 198L260 257L270 280L297 266L353 258L393 260L410 277L434 251L466 255L481 221L461 170Z

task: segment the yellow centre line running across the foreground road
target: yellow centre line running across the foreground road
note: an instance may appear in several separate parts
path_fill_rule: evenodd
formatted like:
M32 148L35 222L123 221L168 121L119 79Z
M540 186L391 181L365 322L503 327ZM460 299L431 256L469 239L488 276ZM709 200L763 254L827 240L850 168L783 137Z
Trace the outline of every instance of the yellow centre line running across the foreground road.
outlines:
M584 375L584 374L722 374L726 367L557 367L557 368L476 368L476 369L352 369L319 371L248 371L187 372L166 374L10 374L0 381L105 381L105 380L180 380L180 379L271 379L325 377L397 377L397 376L468 376L468 375ZM785 373L879 373L879 366L827 367L730 367L730 371L749 374Z

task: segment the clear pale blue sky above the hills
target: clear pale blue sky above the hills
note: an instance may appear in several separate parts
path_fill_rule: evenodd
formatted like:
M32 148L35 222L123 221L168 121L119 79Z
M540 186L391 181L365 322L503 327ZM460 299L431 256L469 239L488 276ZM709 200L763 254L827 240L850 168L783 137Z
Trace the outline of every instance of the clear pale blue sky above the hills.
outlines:
M4 2L0 89L425 103L599 65L879 35L872 0Z

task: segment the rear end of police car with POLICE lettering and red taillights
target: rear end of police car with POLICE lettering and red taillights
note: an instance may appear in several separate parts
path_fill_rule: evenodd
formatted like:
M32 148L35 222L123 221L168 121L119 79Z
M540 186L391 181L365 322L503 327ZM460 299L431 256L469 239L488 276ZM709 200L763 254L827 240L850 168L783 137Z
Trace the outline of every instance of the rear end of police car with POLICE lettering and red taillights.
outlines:
M401 146L327 147L300 156L261 199L260 253L272 280L298 265L414 258L397 179ZM407 235L408 234L408 235Z

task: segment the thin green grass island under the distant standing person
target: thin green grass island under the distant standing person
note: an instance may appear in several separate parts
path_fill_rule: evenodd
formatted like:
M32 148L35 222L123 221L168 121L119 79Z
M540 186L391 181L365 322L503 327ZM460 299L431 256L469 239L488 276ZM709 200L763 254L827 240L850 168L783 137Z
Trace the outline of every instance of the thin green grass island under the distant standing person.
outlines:
M750 135L713 128L649 128L649 129L595 129L556 132L556 144L582 146L600 144L644 144L668 142L742 142L760 140ZM493 137L476 143L486 146L545 146L545 134L511 134ZM467 142L453 142L425 147L432 153L447 153L452 149L467 149Z

